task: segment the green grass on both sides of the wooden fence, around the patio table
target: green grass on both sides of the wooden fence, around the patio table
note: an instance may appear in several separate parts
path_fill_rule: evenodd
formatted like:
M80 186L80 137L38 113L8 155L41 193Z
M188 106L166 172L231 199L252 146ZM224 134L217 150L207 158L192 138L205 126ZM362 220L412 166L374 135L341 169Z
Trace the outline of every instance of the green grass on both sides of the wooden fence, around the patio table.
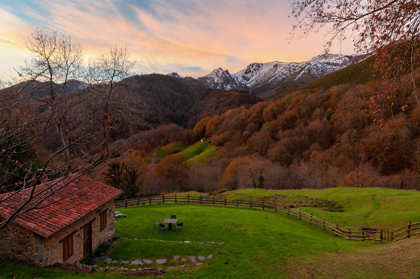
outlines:
M333 199L342 204L346 210L344 212L303 208L307 212L316 212L316 216L324 214L326 219L337 218L339 224L354 222L360 226L357 218L363 223L373 220L371 216L396 224L397 217L394 217L393 212L397 213L398 209L402 211L400 218L420 211L416 207L417 203L413 203L419 196L412 191L375 188L299 191L250 189L224 194L228 197L262 199L286 193L292 197L306 195ZM394 206L398 209L392 209ZM391 212L383 212L387 210ZM128 217L117 218L116 234L123 240L108 254L113 259L171 259L173 255L179 255L180 258L213 255L213 258L203 261L202 265L166 270L159 278L411 279L420 275L419 237L383 244L348 241L284 213L257 208L165 203L120 208L118 211ZM363 211L369 214L363 215ZM163 220L171 214L176 214L178 220L184 222L183 232L162 233L153 227L152 218ZM225 245L184 241L225 242ZM181 264L177 260L162 266L155 263L154 267L166 268ZM100 266L110 265L100 263ZM128 264L115 266L131 268ZM89 275L0 263L1 278L127 278L121 276L121 273L99 271Z

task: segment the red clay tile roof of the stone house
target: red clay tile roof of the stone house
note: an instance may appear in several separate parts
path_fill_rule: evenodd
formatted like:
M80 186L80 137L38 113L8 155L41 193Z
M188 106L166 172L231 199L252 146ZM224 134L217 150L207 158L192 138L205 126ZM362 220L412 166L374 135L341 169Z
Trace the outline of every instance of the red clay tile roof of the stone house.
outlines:
M73 176L75 177L75 176ZM9 218L33 188L0 195L0 218ZM123 191L86 177L57 179L35 187L33 199L25 208L41 200L37 209L28 211L13 222L45 238L76 223L102 205L121 195ZM7 198L8 196L11 196Z

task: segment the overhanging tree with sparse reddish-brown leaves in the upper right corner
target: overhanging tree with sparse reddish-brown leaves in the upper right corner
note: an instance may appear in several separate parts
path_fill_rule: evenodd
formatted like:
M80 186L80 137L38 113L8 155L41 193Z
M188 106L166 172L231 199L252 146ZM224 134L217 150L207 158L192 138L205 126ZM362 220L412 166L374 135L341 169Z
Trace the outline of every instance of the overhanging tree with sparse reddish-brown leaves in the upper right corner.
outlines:
M328 53L334 40L341 42L350 32L358 53L376 55L374 68L382 86L370 97L374 114L387 118L392 110L418 107L420 0L295 0L291 8L297 19L292 37L326 29ZM408 101L399 92L407 83L412 84Z

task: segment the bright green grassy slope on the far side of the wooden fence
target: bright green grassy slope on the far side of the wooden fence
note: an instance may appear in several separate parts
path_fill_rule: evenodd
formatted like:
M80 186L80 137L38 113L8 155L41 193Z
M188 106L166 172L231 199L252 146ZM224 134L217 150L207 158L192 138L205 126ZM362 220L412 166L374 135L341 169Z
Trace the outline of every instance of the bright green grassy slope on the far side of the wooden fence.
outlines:
M279 200L276 196L306 196L333 200L341 205L343 212L323 211L322 207L299 207L341 227L382 227L396 229L409 221L420 221L420 208L416 206L420 192L384 188L330 188L324 190L261 190L244 189L222 194L232 199L255 198L256 200Z

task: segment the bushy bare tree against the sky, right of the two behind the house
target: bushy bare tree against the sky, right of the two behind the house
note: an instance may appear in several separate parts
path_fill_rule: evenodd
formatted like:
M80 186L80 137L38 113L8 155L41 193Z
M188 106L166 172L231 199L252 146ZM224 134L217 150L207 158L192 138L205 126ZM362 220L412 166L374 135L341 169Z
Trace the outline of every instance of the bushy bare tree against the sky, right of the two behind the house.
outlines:
M100 53L88 62L87 80L91 89L89 113L101 123L101 154L109 153L108 130L119 126L119 133L134 134L137 128L144 127L144 116L147 107L144 102L129 93L128 78L136 60L130 61L127 47L110 48L108 53Z

